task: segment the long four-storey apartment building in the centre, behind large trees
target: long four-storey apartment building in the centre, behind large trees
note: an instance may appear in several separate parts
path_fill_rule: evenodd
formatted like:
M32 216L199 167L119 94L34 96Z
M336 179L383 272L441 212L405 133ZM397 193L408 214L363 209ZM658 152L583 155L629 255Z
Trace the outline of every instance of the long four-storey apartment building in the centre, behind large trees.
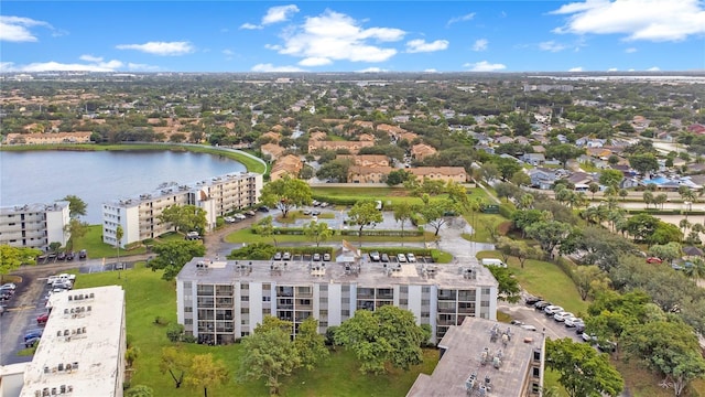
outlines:
M467 316L496 319L497 280L468 262L372 262L338 256L308 260L194 258L176 277L177 319L204 343L228 344L249 335L265 315L294 323L308 316L318 332L340 325L356 310L393 304L430 324L432 341Z

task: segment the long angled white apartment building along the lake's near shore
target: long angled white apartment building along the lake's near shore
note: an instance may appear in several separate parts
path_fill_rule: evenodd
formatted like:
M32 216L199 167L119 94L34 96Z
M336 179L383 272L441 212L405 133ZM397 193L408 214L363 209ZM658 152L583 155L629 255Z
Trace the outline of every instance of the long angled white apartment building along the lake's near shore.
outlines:
M216 226L216 218L252 206L259 202L262 175L253 172L214 176L191 185L163 183L152 193L138 198L124 198L102 204L102 242L116 245L116 230L122 226L120 246L158 237L173 229L159 221L171 205L195 205L206 212L206 229Z

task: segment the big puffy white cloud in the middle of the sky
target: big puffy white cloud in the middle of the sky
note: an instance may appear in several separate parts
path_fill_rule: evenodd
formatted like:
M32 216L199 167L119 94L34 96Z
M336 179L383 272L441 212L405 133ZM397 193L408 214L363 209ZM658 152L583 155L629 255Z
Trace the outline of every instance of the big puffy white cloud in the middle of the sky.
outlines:
M330 61L384 62L397 54L395 49L372 45L368 41L393 42L406 32L393 28L362 29L352 18L326 10L318 17L307 17L304 24L283 32L284 43L267 44L283 55Z

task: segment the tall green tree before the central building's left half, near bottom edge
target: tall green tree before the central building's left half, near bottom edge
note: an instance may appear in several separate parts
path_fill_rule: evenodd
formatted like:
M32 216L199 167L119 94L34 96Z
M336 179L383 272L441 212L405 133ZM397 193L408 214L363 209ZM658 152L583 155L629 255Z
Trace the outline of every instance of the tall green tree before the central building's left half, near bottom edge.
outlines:
M285 324L273 324L275 322ZM281 387L280 377L291 375L301 366L301 357L291 341L291 322L265 316L263 323L258 325L251 335L242 339L239 378L264 377L270 395L278 395Z

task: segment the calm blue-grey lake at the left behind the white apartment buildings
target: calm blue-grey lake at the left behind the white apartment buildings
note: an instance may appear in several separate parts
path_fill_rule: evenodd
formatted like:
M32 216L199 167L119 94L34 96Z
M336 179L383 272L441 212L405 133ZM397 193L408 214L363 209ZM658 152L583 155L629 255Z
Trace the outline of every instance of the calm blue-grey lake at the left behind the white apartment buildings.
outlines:
M134 197L163 182L192 184L232 172L241 163L219 155L173 151L0 152L0 205L83 198L91 225L102 222L102 203Z

